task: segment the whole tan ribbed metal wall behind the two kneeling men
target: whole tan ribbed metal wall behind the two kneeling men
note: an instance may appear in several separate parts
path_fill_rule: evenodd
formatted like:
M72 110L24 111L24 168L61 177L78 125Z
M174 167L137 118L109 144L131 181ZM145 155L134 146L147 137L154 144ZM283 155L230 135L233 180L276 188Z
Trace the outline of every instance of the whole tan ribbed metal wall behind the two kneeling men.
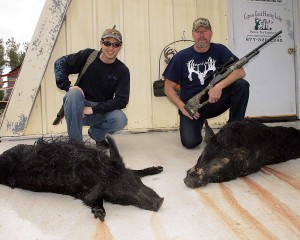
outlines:
M48 0L49 1L49 0ZM62 55L84 48L99 48L106 28L117 26L124 38L119 59L131 72L130 102L124 110L128 130L178 127L177 109L166 97L154 97L152 84L158 79L159 56L169 43L191 39L192 22L210 19L213 41L227 44L226 1L220 0L72 0L46 67L41 87L24 135L66 132L66 124L53 126L64 92L55 85L53 65ZM176 50L192 43L178 43ZM165 63L160 62L161 71ZM73 81L76 76L72 76ZM224 122L226 115L215 122Z

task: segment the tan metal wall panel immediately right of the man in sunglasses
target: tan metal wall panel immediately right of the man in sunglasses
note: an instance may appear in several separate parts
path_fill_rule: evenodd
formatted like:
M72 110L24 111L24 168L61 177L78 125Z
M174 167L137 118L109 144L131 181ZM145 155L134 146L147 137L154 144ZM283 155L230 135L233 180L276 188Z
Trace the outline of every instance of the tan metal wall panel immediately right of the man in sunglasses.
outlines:
M125 63L130 69L128 129L152 128L148 1L124 1Z

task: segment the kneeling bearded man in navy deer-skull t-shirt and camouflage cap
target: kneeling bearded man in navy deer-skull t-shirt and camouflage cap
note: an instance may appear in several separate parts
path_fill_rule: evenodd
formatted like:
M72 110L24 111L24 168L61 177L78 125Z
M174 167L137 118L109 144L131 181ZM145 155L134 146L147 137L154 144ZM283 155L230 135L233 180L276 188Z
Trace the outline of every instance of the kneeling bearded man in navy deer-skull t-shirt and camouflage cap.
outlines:
M165 69L165 93L179 109L181 143L188 149L202 142L201 130L205 119L216 117L229 109L229 122L244 118L248 98L249 83L244 80L243 68L233 71L209 91L208 101L193 116L185 110L185 103L201 92L212 78L205 76L226 63L229 58L238 58L223 44L211 42L213 31L206 18L193 22L194 45L174 55ZM206 81L205 81L206 80ZM180 95L176 85L180 84Z

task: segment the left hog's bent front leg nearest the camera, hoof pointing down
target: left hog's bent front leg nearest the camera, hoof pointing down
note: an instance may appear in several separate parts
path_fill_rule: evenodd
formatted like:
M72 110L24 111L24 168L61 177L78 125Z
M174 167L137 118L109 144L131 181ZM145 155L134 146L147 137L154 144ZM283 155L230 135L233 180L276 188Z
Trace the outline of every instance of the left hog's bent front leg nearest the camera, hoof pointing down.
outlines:
M103 207L103 197L101 196L103 192L102 184L96 184L92 190L84 197L84 203L91 207L92 213L95 218L99 218L101 221L104 221L105 218L105 209Z

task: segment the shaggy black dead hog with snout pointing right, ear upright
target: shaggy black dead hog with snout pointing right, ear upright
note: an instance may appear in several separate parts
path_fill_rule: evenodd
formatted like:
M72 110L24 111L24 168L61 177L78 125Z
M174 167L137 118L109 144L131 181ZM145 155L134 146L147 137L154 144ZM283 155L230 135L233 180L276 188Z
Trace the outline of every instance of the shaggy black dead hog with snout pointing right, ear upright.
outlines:
M164 199L140 177L158 174L163 168L128 169L113 138L108 136L107 141L109 156L94 146L66 138L17 145L0 155L0 184L73 196L102 221L103 200L158 211Z

